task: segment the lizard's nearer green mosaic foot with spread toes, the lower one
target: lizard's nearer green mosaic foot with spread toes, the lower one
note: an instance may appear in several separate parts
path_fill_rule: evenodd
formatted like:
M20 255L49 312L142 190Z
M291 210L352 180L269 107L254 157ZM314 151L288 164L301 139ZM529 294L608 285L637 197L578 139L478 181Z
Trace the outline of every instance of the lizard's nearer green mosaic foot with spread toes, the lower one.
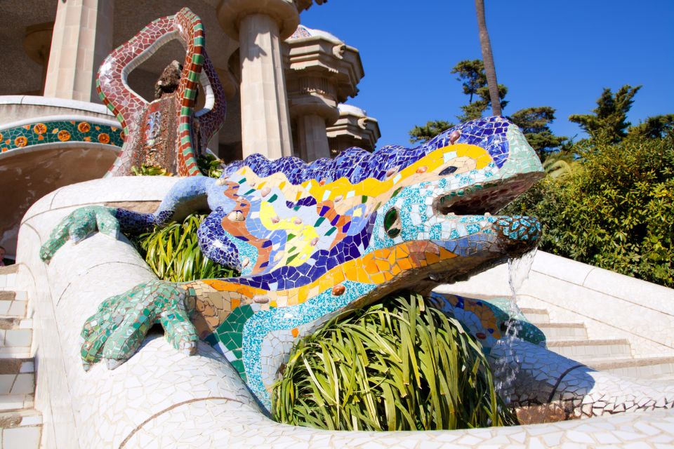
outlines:
M84 368L101 359L108 368L116 368L136 352L156 323L174 348L194 354L199 338L190 322L193 312L194 300L187 286L174 282L149 281L108 298L84 323Z

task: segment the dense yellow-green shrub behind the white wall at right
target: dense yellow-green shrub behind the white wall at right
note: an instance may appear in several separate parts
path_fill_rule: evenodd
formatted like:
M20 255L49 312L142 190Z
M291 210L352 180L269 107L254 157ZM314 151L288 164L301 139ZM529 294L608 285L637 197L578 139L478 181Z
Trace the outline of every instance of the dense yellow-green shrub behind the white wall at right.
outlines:
M539 248L674 287L674 135L576 145L581 163L503 213L535 215Z

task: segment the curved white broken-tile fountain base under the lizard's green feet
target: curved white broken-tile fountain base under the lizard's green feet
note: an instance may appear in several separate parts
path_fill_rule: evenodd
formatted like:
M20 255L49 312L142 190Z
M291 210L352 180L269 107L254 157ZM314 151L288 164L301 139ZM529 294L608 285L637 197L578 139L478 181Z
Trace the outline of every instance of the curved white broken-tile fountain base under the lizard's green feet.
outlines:
M128 243L102 234L77 245L67 243L49 265L39 260L39 246L75 206L158 200L173 182L161 177L117 177L64 187L38 201L22 221L17 288L27 291L35 310L35 403L43 413L43 448L579 448L604 443L623 447L674 444L674 414L670 411L460 431L374 433L290 427L260 413L231 366L206 344L199 345L197 356L185 356L159 335L150 336L138 353L116 370L98 364L85 372L79 357L82 323L106 297L153 275ZM546 276L541 278L546 281L552 279L539 274ZM475 285L489 287L484 279ZM578 287L583 294L596 291ZM550 283L545 289L540 287L547 293L554 288ZM571 300L565 299L567 302L559 307L570 309ZM640 307L638 302L629 303ZM607 307L611 306L604 306L604 310ZM632 319L640 312L632 311ZM638 331L630 330L635 335Z

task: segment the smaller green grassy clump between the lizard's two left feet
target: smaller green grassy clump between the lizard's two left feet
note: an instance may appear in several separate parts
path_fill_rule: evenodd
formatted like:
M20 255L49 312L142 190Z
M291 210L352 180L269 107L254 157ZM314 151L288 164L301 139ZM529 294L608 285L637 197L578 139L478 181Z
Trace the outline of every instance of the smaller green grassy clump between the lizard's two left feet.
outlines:
M134 243L145 262L164 281L184 282L194 279L238 276L204 257L199 249L197 229L206 215L188 215L182 223L172 222L141 234Z

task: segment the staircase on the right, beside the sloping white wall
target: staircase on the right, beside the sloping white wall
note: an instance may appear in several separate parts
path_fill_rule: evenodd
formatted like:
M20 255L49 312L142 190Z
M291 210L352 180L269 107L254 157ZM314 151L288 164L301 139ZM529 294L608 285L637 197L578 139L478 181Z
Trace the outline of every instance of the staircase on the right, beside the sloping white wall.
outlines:
M521 310L546 335L550 351L619 376L674 381L674 357L635 357L628 340L590 340L583 323L550 322L546 309Z

